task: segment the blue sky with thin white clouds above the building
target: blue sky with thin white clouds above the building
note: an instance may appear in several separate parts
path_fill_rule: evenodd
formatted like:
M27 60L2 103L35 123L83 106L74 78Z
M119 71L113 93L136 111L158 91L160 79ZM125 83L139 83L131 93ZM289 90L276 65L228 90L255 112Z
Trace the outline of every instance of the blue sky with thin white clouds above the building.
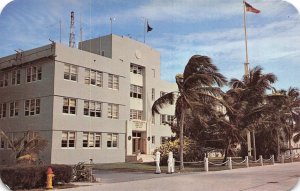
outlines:
M248 0L260 14L247 13L250 67L278 77L276 88L300 88L300 16L281 0ZM143 41L144 20L153 31L146 43L161 52L161 78L174 81L194 54L213 59L228 79L241 78L245 62L242 0L14 0L0 15L0 57L59 42L68 44L70 12L80 15L83 40L110 33Z

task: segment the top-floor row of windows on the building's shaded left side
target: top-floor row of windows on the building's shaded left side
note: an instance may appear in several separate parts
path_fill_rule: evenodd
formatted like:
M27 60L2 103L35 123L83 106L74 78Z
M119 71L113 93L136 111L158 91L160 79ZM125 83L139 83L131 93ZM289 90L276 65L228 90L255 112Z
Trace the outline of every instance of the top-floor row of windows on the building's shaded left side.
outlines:
M21 70L13 70L11 72L0 73L0 87L6 87L9 84L9 76L11 85L21 84ZM42 80L42 66L29 66L26 68L26 82L35 82Z

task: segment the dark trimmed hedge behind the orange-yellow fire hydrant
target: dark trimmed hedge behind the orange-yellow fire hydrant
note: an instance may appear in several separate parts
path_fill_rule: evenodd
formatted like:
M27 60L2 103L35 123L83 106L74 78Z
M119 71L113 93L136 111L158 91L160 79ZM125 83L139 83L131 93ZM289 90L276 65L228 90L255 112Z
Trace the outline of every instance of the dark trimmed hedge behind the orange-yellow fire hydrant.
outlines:
M49 165L54 173L53 184L69 183L72 179L72 166ZM46 185L49 166L13 166L0 169L2 181L11 189L43 188Z

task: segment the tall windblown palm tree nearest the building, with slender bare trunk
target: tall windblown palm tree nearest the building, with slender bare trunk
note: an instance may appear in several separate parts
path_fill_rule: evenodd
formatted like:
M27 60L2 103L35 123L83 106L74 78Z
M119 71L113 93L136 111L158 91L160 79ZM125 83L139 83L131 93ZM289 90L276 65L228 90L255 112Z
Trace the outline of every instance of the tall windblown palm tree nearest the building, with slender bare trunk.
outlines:
M218 101L222 87L226 83L225 77L218 72L218 68L212 64L207 56L194 55L185 66L183 74L177 74L177 92L170 92L157 99L152 106L152 115L159 114L159 110L167 104L172 104L176 99L175 118L180 128L180 169L183 165L183 128L188 111L204 107ZM214 87L217 85L218 87Z

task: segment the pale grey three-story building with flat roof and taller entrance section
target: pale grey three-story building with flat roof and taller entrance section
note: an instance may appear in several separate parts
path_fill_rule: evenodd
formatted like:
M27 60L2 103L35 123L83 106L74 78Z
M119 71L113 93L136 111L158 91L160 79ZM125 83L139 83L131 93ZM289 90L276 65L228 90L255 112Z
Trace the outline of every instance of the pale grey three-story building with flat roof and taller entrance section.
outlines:
M0 58L0 127L17 138L31 131L48 141L45 163L124 162L151 154L172 136L163 122L174 106L152 117L153 102L176 85L160 80L160 54L127 37L52 43ZM0 163L12 161L0 138Z

